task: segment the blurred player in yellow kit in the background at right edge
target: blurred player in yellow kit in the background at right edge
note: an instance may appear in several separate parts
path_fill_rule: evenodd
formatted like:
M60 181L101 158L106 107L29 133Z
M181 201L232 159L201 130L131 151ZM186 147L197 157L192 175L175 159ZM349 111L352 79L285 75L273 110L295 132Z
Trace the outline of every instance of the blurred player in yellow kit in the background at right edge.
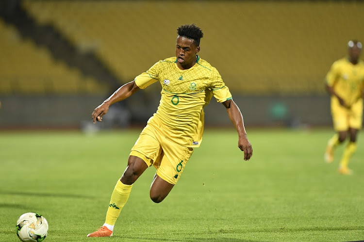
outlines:
M347 167L356 150L356 139L363 122L364 62L359 59L362 43L348 42L348 57L334 62L326 76L326 88L331 95L331 115L337 133L329 140L325 160L333 161L335 148L349 136L340 161L339 173L352 174Z

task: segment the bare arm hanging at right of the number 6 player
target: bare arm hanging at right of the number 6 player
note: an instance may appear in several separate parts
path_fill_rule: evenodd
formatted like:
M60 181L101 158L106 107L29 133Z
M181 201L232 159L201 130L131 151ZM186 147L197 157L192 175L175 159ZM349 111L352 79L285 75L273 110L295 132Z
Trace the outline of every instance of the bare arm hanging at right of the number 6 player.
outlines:
M251 147L247 137L247 131L244 127L243 115L241 114L239 107L232 99L226 100L222 102L222 104L225 106L229 118L232 121L236 131L238 131L238 146L242 151L244 151L244 160L248 161L253 155L253 148Z

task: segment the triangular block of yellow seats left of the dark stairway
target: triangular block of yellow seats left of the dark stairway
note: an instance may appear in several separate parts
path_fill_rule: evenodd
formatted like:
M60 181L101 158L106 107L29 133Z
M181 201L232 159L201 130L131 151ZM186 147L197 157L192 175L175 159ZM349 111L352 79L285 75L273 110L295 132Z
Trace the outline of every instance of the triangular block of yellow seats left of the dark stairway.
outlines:
M17 30L0 20L0 93L104 93L107 89L84 77L63 62L55 61L48 49L22 39Z

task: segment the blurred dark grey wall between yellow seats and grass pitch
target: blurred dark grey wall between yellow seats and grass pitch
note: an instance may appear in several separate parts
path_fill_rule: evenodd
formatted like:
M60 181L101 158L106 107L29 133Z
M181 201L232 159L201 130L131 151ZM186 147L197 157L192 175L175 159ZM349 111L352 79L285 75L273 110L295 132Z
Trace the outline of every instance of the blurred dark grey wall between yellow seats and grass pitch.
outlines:
M124 127L143 126L159 104L154 96L132 96L127 107L118 108L108 119L128 115ZM138 94L138 93L137 93ZM330 99L324 95L310 96L241 96L234 95L248 127L306 127L331 125ZM91 122L91 113L104 96L2 96L0 129L9 128L82 128ZM206 126L232 126L225 108L213 98L205 108ZM102 124L99 124L102 125ZM109 126L110 127L110 126ZM114 127L120 127L115 125Z

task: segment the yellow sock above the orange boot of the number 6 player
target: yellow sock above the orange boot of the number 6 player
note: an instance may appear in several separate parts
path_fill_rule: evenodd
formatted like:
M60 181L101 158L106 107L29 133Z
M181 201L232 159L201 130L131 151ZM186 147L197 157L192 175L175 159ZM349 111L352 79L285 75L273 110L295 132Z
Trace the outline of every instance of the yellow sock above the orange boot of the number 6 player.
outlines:
M128 201L131 191L132 185L125 185L120 180L117 181L107 209L105 224L115 225L116 219Z

